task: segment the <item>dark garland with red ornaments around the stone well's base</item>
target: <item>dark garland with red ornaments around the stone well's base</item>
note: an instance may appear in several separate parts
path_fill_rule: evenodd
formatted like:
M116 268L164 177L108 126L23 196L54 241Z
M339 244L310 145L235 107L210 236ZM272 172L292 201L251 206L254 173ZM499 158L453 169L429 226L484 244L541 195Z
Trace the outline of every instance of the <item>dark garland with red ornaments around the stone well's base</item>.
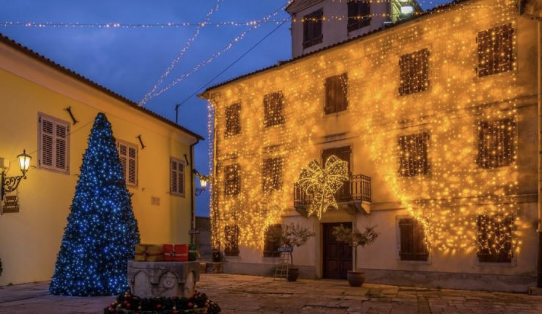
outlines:
M195 292L187 298L140 298L126 292L104 309L104 314L218 314L220 307L205 296Z

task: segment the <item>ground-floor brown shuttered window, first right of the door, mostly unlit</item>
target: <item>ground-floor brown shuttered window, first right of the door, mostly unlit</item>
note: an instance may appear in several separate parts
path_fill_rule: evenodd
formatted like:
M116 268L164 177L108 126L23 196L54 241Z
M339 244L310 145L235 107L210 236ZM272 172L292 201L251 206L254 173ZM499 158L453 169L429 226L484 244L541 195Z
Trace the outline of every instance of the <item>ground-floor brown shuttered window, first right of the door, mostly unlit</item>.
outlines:
M414 218L399 219L401 230L401 260L427 260L429 252L425 245L423 225Z

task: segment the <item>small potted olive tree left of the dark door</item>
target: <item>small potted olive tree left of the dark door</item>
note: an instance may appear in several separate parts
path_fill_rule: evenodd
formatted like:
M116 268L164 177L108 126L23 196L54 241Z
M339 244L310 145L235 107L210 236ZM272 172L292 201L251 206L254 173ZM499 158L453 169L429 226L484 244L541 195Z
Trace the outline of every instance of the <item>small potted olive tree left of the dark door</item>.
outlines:
M268 233L268 237L281 244L279 251L287 252L289 254L290 263L288 265L288 281L295 281L299 277L299 268L294 266L294 259L292 256L294 247L304 245L307 243L308 239L314 235L315 233L307 227L294 223L283 223L281 228L273 229Z

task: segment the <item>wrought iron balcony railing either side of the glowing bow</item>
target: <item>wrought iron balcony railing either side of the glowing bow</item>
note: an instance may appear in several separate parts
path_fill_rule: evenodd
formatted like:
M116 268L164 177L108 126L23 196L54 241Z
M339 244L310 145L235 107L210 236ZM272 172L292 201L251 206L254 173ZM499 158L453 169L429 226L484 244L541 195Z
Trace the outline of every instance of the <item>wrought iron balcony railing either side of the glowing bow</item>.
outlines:
M294 183L294 208L304 208L310 205L314 196L306 193L297 183ZM335 192L338 203L365 201L371 203L371 177L364 175L350 176L343 186Z

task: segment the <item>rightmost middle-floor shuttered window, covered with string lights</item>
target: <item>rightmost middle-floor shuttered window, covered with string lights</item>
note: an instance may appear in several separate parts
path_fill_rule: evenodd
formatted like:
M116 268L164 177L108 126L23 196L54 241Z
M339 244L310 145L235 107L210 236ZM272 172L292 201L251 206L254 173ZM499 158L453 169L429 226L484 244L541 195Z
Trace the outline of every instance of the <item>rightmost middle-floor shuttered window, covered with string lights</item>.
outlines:
M515 122L513 118L478 123L479 168L493 169L511 165L515 156Z

